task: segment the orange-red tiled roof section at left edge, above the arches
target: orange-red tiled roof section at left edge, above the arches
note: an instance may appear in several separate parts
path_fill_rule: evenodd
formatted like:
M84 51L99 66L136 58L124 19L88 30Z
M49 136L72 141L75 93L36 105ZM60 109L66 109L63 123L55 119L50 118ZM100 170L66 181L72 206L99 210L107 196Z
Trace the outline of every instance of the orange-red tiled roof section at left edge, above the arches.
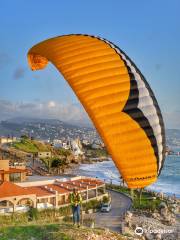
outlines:
M29 195L29 191L12 182L3 182L0 184L0 198Z

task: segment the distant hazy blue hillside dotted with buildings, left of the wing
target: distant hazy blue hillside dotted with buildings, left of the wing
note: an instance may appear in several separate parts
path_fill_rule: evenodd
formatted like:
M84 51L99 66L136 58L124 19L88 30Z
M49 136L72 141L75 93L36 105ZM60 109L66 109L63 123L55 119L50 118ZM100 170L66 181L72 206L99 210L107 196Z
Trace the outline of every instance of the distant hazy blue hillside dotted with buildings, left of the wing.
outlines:
M56 119L16 118L0 122L0 136L28 135L35 139L82 138L84 135L99 139L94 128L71 125Z

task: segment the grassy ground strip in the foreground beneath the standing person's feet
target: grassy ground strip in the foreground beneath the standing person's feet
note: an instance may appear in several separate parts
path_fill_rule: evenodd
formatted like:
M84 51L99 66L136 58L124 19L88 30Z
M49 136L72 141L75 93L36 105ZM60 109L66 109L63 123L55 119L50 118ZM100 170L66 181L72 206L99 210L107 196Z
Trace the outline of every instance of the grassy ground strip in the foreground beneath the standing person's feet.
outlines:
M102 229L90 229L87 227L77 228L72 224L46 224L46 225L27 225L16 227L2 227L0 229L1 240L85 240L95 239L116 239L122 240L117 233L105 233Z

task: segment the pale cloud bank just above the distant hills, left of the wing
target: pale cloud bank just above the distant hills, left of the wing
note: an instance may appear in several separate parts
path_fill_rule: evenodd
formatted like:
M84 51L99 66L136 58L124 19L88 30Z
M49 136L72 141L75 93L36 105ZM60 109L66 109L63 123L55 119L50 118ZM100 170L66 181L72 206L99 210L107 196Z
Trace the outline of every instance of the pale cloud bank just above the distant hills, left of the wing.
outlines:
M90 125L90 120L79 105L56 101L12 103L0 100L0 120L14 117L59 119L68 123Z

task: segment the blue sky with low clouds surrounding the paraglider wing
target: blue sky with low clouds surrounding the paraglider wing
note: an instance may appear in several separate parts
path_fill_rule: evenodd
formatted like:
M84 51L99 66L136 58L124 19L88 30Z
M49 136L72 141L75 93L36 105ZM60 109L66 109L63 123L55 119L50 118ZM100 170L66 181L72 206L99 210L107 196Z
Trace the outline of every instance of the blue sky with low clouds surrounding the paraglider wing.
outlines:
M0 0L0 120L28 116L89 123L49 64L32 72L27 52L47 38L106 38L136 63L159 102L166 128L180 129L180 1Z

